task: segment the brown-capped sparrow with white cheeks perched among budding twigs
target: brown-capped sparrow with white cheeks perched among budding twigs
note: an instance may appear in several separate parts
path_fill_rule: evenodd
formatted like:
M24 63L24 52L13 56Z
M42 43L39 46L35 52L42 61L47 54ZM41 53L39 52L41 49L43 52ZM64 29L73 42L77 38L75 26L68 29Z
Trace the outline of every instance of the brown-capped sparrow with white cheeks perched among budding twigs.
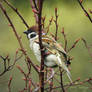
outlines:
M36 56L37 61L41 63L38 27L32 26L23 33L27 35L30 48ZM46 34L44 29L42 29L42 45L44 48L44 65L50 68L61 67L66 71L70 82L72 82L71 73L65 63L67 60L66 51L52 36Z

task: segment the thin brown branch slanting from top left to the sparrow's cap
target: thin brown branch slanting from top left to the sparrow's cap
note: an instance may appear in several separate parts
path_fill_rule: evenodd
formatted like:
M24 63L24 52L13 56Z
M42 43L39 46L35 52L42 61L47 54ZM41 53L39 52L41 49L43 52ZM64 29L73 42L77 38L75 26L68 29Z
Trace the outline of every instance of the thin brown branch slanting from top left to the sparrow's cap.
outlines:
M20 14L20 12L17 10L17 8L14 8L14 6L13 6L10 2L8 2L7 0L3 0L3 1L4 1L13 11L16 12L16 14L20 17L20 19L21 19L21 20L23 21L23 23L25 24L25 26L26 26L27 28L29 28L27 22L24 20L23 16Z

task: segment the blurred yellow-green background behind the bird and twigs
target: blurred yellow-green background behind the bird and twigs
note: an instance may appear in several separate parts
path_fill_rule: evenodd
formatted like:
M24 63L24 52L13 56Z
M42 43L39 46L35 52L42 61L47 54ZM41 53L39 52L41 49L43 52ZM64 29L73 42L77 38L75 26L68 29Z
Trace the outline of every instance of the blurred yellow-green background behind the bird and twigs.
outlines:
M30 0L9 0L22 14L27 23L32 26L35 24L35 19L30 7ZM5 6L10 18L12 19L17 32L22 36L22 42L24 47L27 49L28 54L33 61L36 61L35 57L30 51L29 42L23 31L27 30L20 18L12 11L5 3ZM88 10L92 9L92 0L84 0L83 5ZM92 23L85 16L84 12L80 8L77 0L45 0L43 7L43 16L46 16L45 25L48 25L49 19L54 16L54 8L58 8L58 24L59 24L59 42L64 44L63 36L60 33L62 27L65 29L65 33L68 39L68 47L70 47L77 38L83 37L87 40L88 44L92 44ZM52 23L50 32L55 32L55 25ZM12 32L12 29L8 26L8 21L0 10L0 55L10 55L11 63L14 60L16 49L19 48L19 44ZM92 63L87 49L85 48L82 41L80 41L76 48L73 49L69 55L73 56L71 64L72 79L75 80L78 77L81 80L92 77ZM35 62L37 63L37 62ZM27 71L27 67L22 58L16 63L19 64L24 71ZM2 60L0 59L0 72L2 71ZM34 71L33 71L34 72ZM22 81L22 74L19 70L14 67L10 72L0 77L0 92L7 92L7 81L9 76L13 76L12 81L12 92L18 92L24 87ZM37 80L37 74L33 74L34 80ZM65 80L65 79L64 79ZM68 81L68 79L67 79ZM88 87L72 87L69 92L92 92Z

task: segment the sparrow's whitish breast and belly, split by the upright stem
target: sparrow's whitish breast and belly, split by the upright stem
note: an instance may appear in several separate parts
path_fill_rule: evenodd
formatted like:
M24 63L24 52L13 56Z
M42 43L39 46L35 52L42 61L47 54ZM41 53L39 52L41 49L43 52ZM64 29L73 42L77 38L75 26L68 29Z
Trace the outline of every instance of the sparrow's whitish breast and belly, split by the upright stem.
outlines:
M40 46L38 43L30 44L31 49L34 52L34 55L36 56L36 59L41 62L41 52L40 52ZM56 55L49 54L44 58L44 64L48 67L53 67L56 65L57 57Z

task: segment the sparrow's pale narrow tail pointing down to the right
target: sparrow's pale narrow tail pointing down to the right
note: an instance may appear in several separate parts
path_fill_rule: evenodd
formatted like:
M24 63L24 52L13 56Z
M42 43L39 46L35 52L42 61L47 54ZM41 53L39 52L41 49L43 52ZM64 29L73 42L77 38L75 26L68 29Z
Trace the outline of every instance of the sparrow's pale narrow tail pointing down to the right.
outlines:
M69 80L72 82L71 73L70 73L70 71L68 70L68 68L67 68L67 66L65 65L65 63L64 63L63 61L61 61L61 58L60 58L60 54L59 54L59 53L58 53L58 55L57 55L57 59L58 59L58 65L66 71Z

